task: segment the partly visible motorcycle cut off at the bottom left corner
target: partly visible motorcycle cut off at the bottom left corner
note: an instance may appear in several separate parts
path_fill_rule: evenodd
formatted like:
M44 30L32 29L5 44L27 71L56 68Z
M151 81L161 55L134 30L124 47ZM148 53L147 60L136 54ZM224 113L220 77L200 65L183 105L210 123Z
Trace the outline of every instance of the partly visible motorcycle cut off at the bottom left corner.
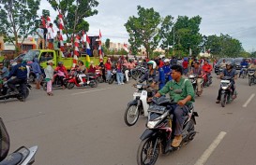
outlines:
M38 146L27 148L22 146L8 155L9 136L3 119L0 117L0 165L32 165L35 162L35 156Z

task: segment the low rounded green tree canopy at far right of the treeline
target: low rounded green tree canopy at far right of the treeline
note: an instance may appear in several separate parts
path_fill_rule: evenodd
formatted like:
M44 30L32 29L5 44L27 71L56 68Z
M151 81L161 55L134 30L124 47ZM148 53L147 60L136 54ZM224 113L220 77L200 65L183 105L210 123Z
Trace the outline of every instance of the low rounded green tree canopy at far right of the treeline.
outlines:
M228 34L209 35L205 42L205 48L210 49L210 52L218 57L239 57L243 51L240 41Z

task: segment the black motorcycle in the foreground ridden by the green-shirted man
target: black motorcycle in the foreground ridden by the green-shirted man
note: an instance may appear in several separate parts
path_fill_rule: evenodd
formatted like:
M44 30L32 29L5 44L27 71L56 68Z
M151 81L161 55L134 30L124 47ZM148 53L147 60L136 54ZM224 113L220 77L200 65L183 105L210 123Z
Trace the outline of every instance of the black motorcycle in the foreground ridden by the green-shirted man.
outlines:
M153 98L148 108L147 129L143 131L140 138L142 142L137 150L138 165L154 165L160 152L168 154L194 139L196 135L195 117L198 117L198 114L191 105L183 125L182 142L178 147L171 146L174 138L172 104L174 103L166 97Z

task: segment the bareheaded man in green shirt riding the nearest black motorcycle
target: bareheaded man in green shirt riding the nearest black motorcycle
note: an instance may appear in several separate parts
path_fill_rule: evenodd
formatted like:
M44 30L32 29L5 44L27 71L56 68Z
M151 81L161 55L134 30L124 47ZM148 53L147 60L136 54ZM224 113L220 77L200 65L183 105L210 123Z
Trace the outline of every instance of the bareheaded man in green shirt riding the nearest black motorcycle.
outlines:
M191 82L182 77L182 66L173 65L171 69L173 80L169 81L163 89L158 90L155 97L160 97L169 92L170 98L176 103L172 108L174 125L174 139L172 146L178 147L182 141L184 117L188 114L189 105L195 102L195 93Z

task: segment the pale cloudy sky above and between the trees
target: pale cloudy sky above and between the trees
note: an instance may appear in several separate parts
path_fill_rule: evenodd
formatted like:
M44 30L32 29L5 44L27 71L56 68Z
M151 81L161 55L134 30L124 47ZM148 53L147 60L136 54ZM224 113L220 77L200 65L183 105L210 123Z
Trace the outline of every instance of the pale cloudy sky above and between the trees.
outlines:
M86 18L90 24L88 34L98 34L103 40L128 43L124 24L128 17L137 17L137 6L154 7L161 17L201 16L201 34L230 34L240 40L243 47L256 51L256 0L98 0L98 15ZM56 13L47 0L41 0L40 9ZM41 13L41 11L38 11Z

